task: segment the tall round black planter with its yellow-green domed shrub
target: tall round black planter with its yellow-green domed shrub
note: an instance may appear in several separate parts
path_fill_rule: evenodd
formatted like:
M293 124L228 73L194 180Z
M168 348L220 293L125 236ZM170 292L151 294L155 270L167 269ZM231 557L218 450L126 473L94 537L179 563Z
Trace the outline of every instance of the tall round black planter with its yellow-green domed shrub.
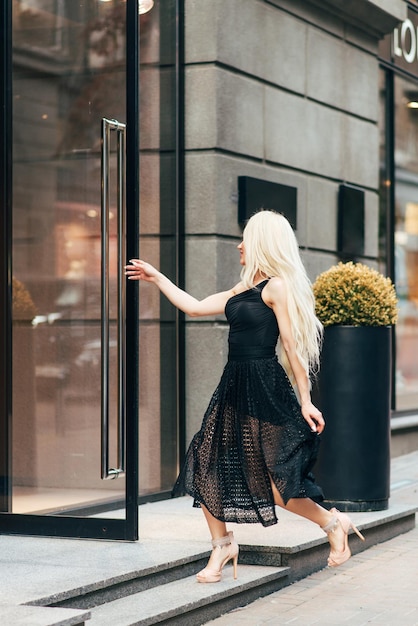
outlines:
M394 285L361 263L338 263L316 279L324 325L313 392L326 428L315 470L326 502L345 511L388 507L391 326Z

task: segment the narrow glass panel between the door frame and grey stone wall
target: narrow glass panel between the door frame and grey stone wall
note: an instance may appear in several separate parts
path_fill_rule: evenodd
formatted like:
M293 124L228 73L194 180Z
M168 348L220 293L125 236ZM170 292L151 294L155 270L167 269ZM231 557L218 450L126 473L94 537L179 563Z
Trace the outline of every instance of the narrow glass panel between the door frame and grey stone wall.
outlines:
M140 21L140 254L176 276L176 2ZM170 491L177 474L177 318L158 290L140 289L140 494Z

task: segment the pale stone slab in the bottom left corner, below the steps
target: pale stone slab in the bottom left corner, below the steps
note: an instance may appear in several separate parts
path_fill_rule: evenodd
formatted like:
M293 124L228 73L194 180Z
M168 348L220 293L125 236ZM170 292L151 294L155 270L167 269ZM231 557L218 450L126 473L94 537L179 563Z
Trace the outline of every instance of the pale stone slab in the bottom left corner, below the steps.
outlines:
M0 604L1 626L83 626L88 619L90 611Z

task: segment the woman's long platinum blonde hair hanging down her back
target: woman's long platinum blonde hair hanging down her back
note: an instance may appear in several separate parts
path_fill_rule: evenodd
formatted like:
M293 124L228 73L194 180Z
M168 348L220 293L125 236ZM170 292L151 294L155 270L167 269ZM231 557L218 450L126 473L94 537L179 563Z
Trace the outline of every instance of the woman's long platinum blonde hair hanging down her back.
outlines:
M241 280L246 289L254 286L256 276L278 276L285 284L287 308L296 354L305 371L316 373L322 341L322 324L315 315L311 281L300 258L295 234L287 219L275 211L255 213L244 229L245 266ZM294 376L283 345L280 360L289 378Z

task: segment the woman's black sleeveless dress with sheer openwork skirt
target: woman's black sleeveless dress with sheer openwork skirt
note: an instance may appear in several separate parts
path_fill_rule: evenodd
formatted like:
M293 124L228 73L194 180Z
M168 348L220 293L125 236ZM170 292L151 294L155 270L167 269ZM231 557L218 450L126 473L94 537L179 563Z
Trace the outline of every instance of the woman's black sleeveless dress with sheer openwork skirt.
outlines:
M263 526L277 522L270 476L285 503L323 499L311 474L318 436L276 357L277 320L261 297L267 282L226 304L228 362L173 488L221 521Z

